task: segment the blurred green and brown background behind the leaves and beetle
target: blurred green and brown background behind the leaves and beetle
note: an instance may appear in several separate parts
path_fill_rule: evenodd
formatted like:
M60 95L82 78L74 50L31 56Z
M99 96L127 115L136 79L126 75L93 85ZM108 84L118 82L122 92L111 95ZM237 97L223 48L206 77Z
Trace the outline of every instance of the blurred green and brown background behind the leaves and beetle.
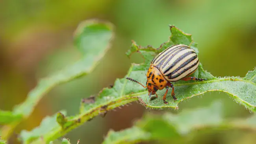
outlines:
M93 73L60 85L37 105L28 120L16 129L30 130L46 115L67 109L78 113L80 100L97 94L126 75L130 63L142 62L125 52L131 40L159 47L170 36L169 24L191 33L198 42L200 62L213 76L245 76L256 66L255 0L2 0L0 1L0 109L12 110L23 102L37 79L78 60L73 33L78 23L90 18L115 24L115 40ZM104 74L102 74L104 71ZM178 96L178 95L177 95ZM211 92L180 103L180 110L210 105L221 100L226 118L247 117L250 112L228 95ZM178 113L175 110L166 110ZM74 129L65 137L75 143L99 144L109 129L132 126L143 113L142 105L109 112L105 118ZM255 135L255 133L254 133ZM13 135L11 143L15 141ZM198 133L190 143L256 143L245 131Z

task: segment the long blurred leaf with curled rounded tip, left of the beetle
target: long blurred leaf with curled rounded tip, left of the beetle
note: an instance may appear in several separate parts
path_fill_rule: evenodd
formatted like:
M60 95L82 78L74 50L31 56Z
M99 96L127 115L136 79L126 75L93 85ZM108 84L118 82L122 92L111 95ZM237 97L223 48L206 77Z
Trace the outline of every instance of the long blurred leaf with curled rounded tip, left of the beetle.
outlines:
M82 51L83 57L72 65L39 80L37 86L28 94L25 102L14 108L14 115L22 115L26 119L41 98L55 86L85 76L90 73L98 61L104 56L113 38L113 25L108 22L86 20L79 24L74 38L76 47ZM7 139L20 121L2 128L3 138Z

